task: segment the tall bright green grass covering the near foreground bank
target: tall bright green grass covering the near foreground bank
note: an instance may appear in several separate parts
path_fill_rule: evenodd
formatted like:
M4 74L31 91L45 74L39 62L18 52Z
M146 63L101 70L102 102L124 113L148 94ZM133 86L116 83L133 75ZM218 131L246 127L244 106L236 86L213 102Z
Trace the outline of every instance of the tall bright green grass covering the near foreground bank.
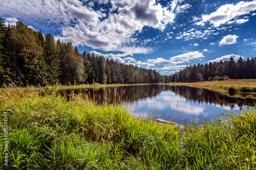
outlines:
M256 111L223 114L229 122L178 129L98 106L66 101L33 87L0 89L1 133L8 112L9 167L1 169L253 169ZM3 144L1 156L4 161Z

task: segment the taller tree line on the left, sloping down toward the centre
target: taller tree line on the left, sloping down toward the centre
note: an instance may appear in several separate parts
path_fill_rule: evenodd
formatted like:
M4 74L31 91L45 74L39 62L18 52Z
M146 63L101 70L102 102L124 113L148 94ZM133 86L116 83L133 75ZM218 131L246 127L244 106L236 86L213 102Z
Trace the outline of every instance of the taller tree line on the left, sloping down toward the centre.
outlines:
M0 84L160 83L165 76L151 69L125 65L117 60L79 53L71 42L54 40L17 21L6 26L0 18Z

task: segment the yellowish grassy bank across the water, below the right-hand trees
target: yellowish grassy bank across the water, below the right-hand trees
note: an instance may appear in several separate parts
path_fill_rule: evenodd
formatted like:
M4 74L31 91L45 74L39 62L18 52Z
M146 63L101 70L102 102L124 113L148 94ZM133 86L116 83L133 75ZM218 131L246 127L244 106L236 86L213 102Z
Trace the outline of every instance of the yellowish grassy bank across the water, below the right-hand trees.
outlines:
M247 92L256 93L256 79L225 80L196 83L170 83L170 85L188 85L195 87L222 90L224 92Z

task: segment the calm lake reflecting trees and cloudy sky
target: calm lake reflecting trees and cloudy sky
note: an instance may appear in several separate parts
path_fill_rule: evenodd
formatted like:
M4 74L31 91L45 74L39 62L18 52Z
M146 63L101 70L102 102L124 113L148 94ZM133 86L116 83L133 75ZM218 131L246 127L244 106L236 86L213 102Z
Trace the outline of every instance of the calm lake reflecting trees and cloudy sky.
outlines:
M58 92L64 95L72 90ZM220 113L228 111L239 114L241 109L252 107L256 102L203 88L164 84L76 88L74 93L87 94L98 104L121 103L134 116L162 118L181 125L202 124L204 120L216 119Z

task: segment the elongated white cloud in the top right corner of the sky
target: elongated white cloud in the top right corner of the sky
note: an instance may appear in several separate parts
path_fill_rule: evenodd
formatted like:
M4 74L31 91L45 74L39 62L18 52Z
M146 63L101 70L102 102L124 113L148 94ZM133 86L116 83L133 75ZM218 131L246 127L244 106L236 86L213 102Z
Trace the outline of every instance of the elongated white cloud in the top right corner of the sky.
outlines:
M249 14L250 11L255 11L256 1L252 2L239 2L236 5L226 4L217 9L217 11L212 12L209 15L203 15L202 20L197 22L197 25L204 25L205 22L210 22L215 27L237 18L244 14Z

